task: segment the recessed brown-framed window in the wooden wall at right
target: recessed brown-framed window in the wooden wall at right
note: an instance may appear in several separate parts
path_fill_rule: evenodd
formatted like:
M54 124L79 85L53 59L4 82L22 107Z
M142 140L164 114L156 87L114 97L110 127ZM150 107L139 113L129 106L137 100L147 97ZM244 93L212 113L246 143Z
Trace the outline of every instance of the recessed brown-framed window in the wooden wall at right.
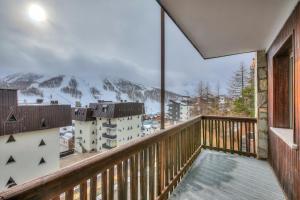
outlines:
M294 128L294 49L293 36L273 57L273 126Z

